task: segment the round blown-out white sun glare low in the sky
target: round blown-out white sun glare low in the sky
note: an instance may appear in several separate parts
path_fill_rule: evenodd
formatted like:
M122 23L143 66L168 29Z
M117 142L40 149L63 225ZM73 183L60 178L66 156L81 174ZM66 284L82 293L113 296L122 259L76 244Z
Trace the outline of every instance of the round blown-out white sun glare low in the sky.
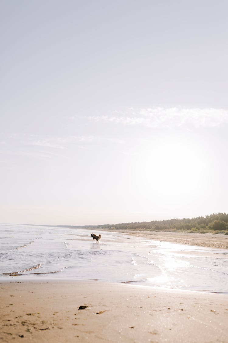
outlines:
M151 144L137 162L135 179L147 193L149 189L150 194L172 194L175 199L204 187L206 161L188 142L166 141L156 147Z

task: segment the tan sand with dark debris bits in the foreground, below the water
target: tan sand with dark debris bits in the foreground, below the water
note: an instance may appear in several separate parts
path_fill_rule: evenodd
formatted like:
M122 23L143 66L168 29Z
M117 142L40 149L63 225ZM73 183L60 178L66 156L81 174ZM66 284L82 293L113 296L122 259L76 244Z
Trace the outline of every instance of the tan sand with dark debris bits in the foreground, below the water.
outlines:
M0 297L1 342L228 342L227 295L17 279Z

